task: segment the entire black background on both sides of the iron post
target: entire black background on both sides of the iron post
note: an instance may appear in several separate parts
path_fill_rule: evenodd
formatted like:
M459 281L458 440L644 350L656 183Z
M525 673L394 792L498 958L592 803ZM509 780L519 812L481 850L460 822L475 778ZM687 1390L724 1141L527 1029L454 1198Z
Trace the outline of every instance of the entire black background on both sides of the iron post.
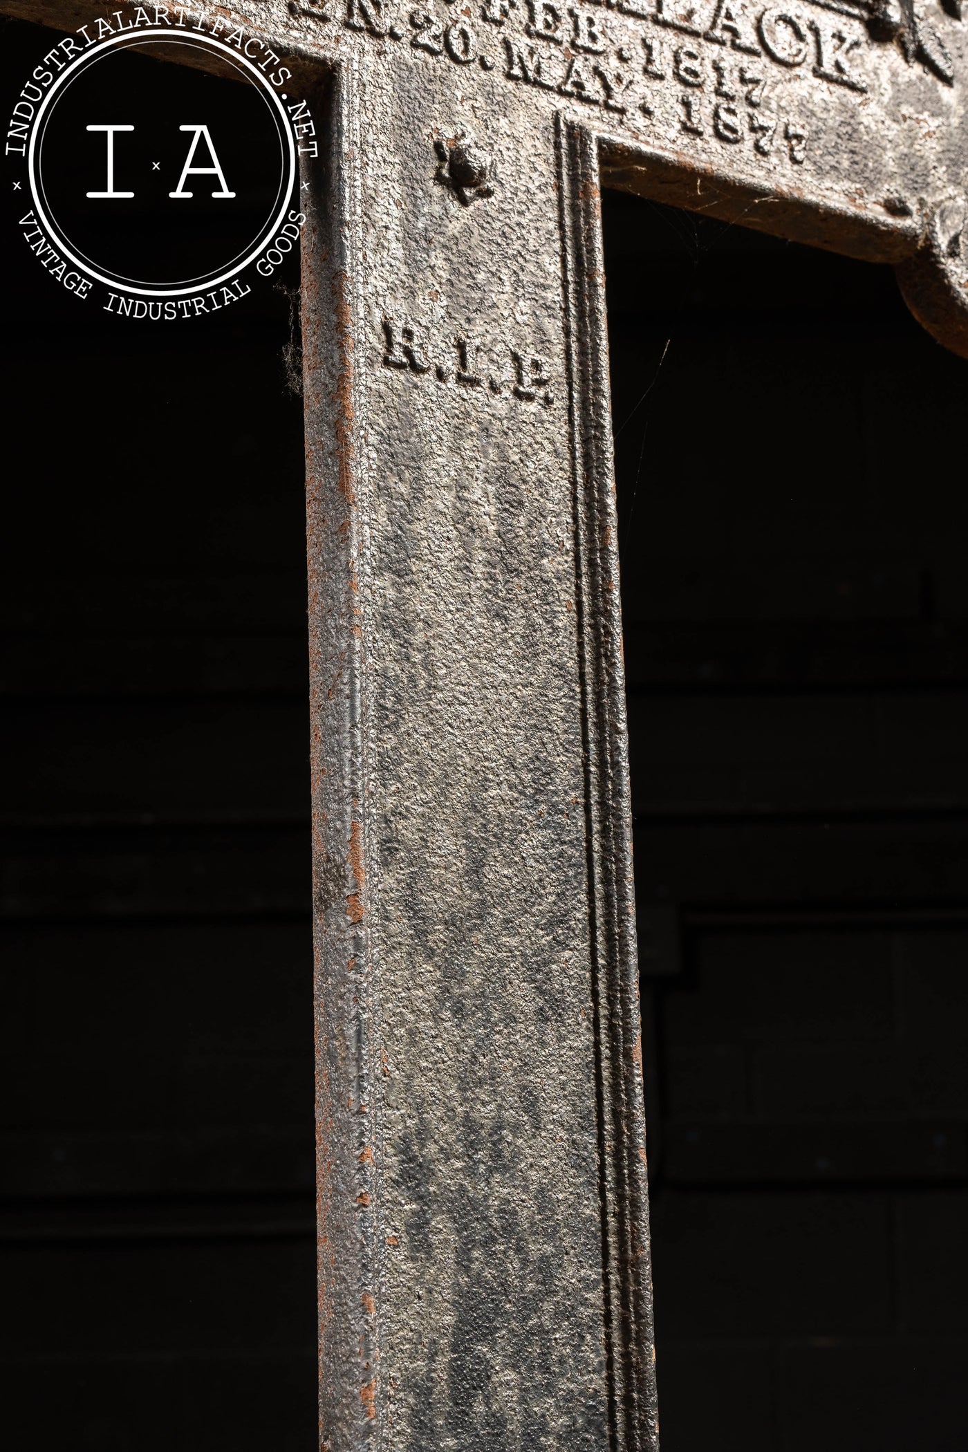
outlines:
M961 1452L968 363L885 269L604 213L663 1446ZM4 1439L309 1452L290 298L3 261Z

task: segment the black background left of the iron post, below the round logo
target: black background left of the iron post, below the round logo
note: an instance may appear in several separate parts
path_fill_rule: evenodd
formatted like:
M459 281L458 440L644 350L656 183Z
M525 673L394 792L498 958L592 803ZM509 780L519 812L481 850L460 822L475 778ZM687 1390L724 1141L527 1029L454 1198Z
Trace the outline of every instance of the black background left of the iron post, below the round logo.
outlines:
M0 26L4 103L55 39ZM61 287L19 215L0 238L0 1440L302 1452L298 261L213 315L135 322Z

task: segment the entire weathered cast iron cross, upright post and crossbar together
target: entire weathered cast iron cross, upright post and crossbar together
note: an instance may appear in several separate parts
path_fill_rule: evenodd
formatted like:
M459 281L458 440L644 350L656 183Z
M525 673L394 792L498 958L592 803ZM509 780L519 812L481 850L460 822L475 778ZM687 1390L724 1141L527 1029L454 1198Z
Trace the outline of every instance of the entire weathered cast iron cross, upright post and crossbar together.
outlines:
M287 57L319 134L322 1445L652 1449L599 186L894 263L968 354L961 0L194 12Z

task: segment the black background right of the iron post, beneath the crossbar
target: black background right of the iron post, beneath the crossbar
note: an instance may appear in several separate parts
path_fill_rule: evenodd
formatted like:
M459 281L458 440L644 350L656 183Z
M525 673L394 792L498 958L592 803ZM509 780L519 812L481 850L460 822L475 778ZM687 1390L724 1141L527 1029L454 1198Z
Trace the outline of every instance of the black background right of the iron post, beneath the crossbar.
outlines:
M665 1448L953 1452L968 363L884 267L605 248Z

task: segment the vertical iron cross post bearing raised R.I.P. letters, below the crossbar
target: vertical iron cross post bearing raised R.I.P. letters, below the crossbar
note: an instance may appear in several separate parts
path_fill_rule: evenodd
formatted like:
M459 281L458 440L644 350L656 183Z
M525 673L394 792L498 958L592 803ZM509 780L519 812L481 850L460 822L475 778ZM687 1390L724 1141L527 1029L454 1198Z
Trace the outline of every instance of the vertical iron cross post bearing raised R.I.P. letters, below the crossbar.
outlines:
M595 147L408 60L306 203L322 1437L652 1448Z

